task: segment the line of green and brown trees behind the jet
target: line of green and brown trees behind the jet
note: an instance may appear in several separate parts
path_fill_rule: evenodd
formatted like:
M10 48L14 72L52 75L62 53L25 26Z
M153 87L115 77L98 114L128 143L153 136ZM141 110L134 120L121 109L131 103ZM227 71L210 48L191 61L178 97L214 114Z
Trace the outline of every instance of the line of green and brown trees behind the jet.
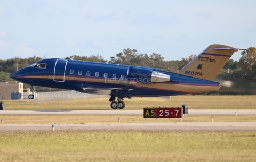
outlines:
M182 69L182 67L189 63L193 58L195 58L196 55L190 55L189 57L182 58L181 60L165 61L164 57L162 57L160 54L141 54L138 53L136 49L127 48L122 52L117 53L115 56L110 57L108 60L99 54L90 56L72 55L65 58L69 59L71 57L81 61L147 66L168 71L170 69ZM43 58L45 58L45 56ZM9 78L10 73L33 64L43 58L33 56L28 58L14 57L6 60L0 59L0 82L11 82L12 79ZM250 47L247 50L242 51L239 61L229 59L227 64L223 67L217 76L217 79L231 81L243 80L245 82L256 81L256 48Z

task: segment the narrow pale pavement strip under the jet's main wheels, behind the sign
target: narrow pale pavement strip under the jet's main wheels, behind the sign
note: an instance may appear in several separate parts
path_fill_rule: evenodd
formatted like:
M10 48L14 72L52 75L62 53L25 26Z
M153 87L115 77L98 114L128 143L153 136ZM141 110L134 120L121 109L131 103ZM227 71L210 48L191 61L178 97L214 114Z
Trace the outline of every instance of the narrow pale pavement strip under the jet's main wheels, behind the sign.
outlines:
M256 115L256 109L188 110L189 115ZM0 115L143 115L143 110L0 110Z

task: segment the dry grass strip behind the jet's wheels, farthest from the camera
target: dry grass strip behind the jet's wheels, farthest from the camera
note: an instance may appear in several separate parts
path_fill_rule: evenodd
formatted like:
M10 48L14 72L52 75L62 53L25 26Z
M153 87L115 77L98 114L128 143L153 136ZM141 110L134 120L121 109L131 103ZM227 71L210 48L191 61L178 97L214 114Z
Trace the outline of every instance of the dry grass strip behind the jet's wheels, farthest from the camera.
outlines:
M143 107L181 107L187 104L189 109L255 109L256 96L205 96L185 95L163 98L125 99L125 109L143 109ZM108 98L90 98L83 100L50 101L35 103L29 100L5 100L6 110L43 110L43 109L111 109Z

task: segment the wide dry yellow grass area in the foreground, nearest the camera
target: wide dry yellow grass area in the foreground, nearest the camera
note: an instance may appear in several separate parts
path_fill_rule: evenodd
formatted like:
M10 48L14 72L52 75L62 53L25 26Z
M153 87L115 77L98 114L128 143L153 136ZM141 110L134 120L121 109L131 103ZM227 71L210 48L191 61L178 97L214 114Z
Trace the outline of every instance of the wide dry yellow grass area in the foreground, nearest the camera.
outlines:
M0 133L1 161L255 161L256 132Z

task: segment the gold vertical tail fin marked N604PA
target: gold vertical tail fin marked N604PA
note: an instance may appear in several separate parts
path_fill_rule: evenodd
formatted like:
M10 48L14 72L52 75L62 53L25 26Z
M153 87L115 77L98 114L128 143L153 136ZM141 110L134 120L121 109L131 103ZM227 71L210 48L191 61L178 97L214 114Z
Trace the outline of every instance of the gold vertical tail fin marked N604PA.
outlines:
M212 81L238 50L226 45L211 45L184 66L179 73Z

